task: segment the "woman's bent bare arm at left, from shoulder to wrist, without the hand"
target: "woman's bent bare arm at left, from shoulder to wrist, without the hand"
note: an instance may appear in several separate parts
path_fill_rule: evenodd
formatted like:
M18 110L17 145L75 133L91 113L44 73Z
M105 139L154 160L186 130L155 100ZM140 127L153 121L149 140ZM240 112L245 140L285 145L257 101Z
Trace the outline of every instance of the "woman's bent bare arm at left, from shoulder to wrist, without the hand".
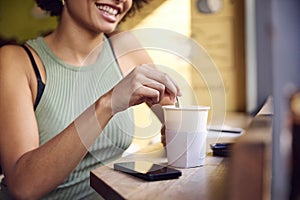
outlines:
M39 146L31 90L36 79L31 71L23 49L16 46L0 49L0 161L8 188L20 199L37 199L57 187L77 166L86 154L87 146L99 134L99 130L90 132L89 129L89 137L79 135L83 131L78 133L72 123ZM101 113L97 118L101 122L100 128L111 118L110 105L104 102L107 102L105 96L98 101L96 108ZM77 119L92 123L87 127L95 125L95 112L91 110ZM99 129L99 125L95 127Z

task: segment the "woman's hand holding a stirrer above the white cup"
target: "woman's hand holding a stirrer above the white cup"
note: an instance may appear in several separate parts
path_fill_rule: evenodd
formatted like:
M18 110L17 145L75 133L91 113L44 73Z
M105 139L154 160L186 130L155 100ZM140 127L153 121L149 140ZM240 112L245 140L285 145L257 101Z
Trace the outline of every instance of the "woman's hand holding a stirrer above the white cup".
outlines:
M171 77L146 64L134 68L111 93L112 114L143 102L158 104L164 97L175 102L175 97L181 96L178 85Z

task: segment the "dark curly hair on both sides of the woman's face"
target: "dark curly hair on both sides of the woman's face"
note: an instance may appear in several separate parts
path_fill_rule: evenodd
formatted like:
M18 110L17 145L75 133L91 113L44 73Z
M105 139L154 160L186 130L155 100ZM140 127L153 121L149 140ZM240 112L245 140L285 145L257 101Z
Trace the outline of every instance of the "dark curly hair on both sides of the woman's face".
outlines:
M49 12L51 16L60 16L62 12L62 1L61 0L36 0L37 5ZM133 0L132 1L132 7L128 11L125 17L127 16L133 16L136 11L140 10L144 4L149 3L149 0ZM123 18L123 20L125 19Z

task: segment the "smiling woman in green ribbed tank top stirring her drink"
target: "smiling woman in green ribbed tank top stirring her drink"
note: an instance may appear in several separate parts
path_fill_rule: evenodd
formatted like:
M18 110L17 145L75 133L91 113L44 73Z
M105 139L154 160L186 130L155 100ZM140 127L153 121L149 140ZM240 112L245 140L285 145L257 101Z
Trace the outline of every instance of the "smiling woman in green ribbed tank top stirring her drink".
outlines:
M0 197L94 199L89 172L130 145L131 107L181 95L144 51L116 56L130 34L107 37L144 2L37 0L57 28L0 49Z

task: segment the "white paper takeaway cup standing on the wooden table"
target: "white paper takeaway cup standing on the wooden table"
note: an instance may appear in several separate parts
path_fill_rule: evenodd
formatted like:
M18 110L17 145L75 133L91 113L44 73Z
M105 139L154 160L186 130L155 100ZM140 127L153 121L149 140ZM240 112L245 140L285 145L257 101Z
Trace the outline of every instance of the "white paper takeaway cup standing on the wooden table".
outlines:
M207 106L163 106L168 164L190 168L205 164Z

